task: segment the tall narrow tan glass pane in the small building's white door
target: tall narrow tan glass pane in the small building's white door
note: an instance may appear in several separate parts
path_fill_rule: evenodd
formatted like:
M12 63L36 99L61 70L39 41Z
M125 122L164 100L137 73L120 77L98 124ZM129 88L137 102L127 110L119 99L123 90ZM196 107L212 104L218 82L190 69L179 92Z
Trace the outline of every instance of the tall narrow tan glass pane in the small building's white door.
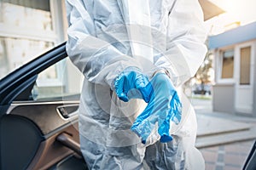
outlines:
M251 70L251 47L240 49L240 84L250 84L250 70Z

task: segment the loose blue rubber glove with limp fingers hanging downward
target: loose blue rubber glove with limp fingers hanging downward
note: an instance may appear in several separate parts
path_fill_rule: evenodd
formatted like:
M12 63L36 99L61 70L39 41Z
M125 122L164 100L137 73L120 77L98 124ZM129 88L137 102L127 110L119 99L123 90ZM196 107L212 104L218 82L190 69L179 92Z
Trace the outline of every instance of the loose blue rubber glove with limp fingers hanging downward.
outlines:
M155 123L158 122L160 142L169 142L172 140L169 134L170 120L176 124L181 120L182 104L177 91L165 73L156 74L146 88L151 92L150 100L143 113L137 116L131 131L137 133L145 144Z

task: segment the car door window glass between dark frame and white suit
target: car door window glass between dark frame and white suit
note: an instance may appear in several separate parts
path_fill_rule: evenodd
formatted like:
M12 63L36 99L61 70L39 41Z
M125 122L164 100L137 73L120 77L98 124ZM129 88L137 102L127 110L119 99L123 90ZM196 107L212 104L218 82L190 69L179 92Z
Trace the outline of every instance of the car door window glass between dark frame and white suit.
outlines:
M70 59L62 59L38 74L38 79L32 88L32 99L35 101L79 99L82 82L83 75Z

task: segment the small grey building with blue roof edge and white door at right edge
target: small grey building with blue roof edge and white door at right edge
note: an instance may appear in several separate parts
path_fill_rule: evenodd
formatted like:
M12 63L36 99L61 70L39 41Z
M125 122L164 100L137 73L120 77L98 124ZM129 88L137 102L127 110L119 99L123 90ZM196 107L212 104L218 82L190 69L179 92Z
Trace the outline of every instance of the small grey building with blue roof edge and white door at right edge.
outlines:
M214 54L213 111L256 116L256 22L209 37Z

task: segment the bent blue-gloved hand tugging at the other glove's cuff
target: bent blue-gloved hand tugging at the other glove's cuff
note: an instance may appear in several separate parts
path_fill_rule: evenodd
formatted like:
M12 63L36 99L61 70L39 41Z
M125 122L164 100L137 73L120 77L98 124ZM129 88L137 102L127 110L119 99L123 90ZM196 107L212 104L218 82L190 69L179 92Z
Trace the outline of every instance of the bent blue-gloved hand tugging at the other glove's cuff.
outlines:
M119 99L125 102L129 99L144 99L148 103L148 82L148 77L137 67L128 67L115 79L114 87Z

